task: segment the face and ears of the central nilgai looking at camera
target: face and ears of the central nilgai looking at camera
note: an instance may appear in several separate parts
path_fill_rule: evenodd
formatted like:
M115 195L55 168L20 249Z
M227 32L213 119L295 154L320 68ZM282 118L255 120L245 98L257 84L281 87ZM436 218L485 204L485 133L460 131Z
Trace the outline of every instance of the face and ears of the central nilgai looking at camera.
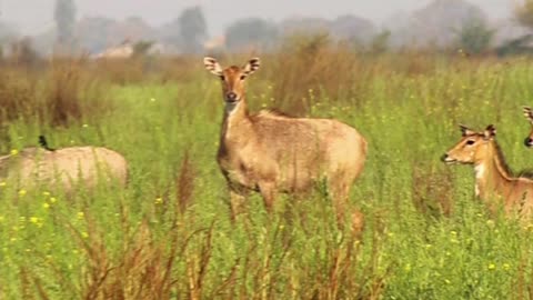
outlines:
M204 58L203 64L211 73L218 76L222 81L222 94L227 103L237 104L244 98L244 81L261 66L259 58L253 58L240 68L237 66L222 69L213 58Z

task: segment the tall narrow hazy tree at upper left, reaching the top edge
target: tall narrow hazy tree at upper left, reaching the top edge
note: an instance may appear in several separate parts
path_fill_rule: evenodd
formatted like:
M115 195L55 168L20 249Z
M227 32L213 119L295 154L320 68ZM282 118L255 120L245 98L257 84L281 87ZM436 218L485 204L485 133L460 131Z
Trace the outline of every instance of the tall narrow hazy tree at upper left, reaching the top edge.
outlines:
M58 29L58 43L68 46L74 38L76 4L73 0L56 0L54 20Z

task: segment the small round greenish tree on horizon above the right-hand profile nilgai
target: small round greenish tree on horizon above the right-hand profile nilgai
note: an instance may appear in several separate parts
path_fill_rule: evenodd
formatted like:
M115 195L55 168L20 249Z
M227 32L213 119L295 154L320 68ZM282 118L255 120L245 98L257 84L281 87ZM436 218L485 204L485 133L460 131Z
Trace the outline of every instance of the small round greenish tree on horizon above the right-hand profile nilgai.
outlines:
M484 20L474 18L456 32L459 47L470 54L479 54L489 50L495 30L489 28Z

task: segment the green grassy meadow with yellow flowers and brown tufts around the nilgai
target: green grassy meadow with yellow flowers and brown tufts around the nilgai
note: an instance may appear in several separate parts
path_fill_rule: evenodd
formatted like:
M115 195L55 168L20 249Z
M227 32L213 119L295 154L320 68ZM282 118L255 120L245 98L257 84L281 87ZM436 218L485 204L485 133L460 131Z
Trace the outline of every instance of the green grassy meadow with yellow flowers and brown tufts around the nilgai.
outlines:
M104 146L125 156L130 181L74 196L1 181L0 299L533 299L533 222L487 213L473 168L440 161L457 123L493 123L510 166L533 167L521 111L533 60L320 44L261 58L252 111L336 118L366 138L350 197L361 239L338 229L321 187L280 197L271 217L253 194L231 223L214 159L220 83L200 57L6 61L0 153L39 134Z

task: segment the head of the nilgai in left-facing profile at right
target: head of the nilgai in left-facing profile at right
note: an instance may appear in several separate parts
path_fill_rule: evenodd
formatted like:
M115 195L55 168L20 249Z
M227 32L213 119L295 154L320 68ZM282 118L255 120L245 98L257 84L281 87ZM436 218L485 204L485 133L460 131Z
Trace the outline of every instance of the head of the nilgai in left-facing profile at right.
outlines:
M483 132L470 130L465 126L460 126L460 128L462 138L457 144L442 156L443 162L447 164L471 164L476 161L482 161L491 154L490 149L492 148L490 144L496 137L496 129L494 126L487 126Z

